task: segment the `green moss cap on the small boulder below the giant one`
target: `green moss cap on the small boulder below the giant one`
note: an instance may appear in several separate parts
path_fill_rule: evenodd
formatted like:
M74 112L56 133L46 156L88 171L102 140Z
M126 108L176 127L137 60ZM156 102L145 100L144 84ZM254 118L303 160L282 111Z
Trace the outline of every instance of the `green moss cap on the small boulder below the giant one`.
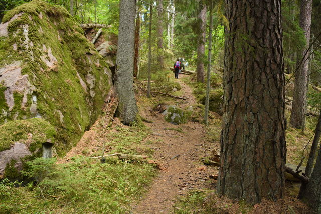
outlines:
M48 139L54 142L56 131L50 123L39 118L16 120L0 126L0 151L15 142L28 143L31 152L41 148Z

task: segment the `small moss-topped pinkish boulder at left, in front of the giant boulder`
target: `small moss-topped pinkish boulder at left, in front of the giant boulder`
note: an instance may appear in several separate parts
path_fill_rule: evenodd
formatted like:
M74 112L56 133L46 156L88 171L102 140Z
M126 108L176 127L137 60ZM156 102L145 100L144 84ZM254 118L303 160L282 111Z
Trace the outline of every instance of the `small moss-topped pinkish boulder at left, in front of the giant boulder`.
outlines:
M8 171L13 171L13 168L21 170L21 159L26 156L42 156L43 144L53 145L55 136L55 128L40 118L10 121L1 125L0 175L5 172L8 177Z

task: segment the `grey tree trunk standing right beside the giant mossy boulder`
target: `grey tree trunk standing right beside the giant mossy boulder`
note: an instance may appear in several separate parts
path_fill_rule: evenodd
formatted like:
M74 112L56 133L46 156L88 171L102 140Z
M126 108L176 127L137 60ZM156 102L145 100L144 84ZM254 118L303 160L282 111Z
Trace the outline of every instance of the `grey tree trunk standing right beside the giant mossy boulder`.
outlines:
M115 89L118 95L118 115L124 124L137 119L138 108L133 89L136 1L121 0Z

